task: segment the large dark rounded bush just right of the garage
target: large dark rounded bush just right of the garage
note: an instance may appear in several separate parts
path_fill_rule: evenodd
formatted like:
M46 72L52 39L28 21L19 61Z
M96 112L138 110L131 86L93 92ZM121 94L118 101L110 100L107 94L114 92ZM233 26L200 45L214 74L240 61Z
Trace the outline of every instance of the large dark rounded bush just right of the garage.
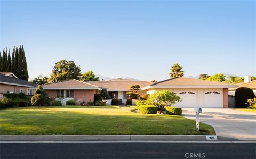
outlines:
M240 87L236 89L235 101L237 108L247 108L245 104L248 99L253 99L255 97L253 90L247 87Z

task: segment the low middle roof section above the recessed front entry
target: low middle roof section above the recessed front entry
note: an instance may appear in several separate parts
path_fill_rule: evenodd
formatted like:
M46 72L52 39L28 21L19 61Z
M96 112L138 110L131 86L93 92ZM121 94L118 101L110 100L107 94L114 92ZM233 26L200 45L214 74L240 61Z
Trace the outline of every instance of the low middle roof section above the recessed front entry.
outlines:
M148 81L132 81L132 80L110 80L110 81L86 81L92 85L105 88L108 91L129 91L130 85L140 85L140 88L151 85L153 82Z

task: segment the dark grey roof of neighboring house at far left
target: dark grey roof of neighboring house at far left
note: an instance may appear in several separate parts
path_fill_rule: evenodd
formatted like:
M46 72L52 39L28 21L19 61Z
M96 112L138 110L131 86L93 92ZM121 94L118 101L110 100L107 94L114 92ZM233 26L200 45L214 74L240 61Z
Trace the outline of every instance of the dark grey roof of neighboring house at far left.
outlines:
M36 87L35 83L28 82L19 78L5 76L0 73L0 83L4 85L24 86L24 87Z

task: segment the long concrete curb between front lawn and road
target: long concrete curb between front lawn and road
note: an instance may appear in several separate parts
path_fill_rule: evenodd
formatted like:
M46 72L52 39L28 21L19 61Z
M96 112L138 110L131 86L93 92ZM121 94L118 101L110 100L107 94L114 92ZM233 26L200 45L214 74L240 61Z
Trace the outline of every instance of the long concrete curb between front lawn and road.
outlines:
M1 135L0 141L206 140L205 135Z

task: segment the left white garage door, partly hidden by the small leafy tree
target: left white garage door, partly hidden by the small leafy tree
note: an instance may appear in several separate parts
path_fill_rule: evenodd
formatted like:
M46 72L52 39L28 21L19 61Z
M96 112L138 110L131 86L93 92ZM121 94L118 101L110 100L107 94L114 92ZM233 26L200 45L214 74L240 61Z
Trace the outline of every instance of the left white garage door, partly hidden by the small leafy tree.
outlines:
M195 90L173 91L173 93L182 99L182 102L176 103L175 106L182 108L197 107L197 92Z

